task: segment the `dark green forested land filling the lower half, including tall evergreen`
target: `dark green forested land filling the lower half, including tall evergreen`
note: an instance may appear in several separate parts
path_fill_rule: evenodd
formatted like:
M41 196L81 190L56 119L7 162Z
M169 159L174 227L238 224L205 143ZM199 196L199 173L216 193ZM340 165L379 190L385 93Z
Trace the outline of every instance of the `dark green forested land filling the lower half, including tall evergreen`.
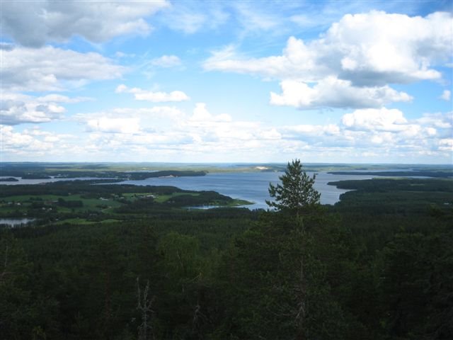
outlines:
M0 227L0 339L453 339L452 179L352 176L336 205L297 161L280 179L270 210L101 179L0 186L0 217L35 219Z

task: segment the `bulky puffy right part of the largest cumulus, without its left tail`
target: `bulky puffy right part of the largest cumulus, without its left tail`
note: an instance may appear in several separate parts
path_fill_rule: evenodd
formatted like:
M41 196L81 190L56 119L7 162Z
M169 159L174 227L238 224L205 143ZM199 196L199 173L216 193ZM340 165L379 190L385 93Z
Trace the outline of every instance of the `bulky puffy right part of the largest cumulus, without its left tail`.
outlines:
M326 34L341 57L341 76L357 84L438 79L433 64L452 54L452 14L425 18L372 11L346 15Z

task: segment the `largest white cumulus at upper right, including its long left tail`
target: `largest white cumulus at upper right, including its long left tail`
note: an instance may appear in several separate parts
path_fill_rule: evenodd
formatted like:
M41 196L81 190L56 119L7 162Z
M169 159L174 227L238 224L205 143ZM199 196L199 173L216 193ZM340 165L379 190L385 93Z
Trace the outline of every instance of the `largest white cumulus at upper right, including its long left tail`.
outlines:
M236 59L229 50L205 61L205 69L258 74L277 79L319 81L339 75L361 86L437 79L432 65L452 54L452 14L425 18L372 11L346 15L322 38L291 37L282 55Z

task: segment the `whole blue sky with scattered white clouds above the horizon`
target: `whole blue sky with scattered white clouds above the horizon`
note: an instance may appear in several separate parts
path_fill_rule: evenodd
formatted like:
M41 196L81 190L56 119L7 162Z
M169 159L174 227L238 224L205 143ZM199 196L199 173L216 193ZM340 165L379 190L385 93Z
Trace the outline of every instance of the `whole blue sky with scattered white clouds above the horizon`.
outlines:
M452 13L0 0L0 162L453 164Z

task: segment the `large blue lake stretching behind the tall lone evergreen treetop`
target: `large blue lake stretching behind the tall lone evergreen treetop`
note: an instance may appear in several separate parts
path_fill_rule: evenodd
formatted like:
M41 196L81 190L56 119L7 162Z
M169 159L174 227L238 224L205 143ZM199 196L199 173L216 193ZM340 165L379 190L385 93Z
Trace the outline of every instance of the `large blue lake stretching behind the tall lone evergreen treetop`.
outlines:
M194 191L217 191L222 195L239 198L253 202L247 205L250 209L268 208L265 200L269 200L269 183L280 183L278 179L282 172L227 172L212 173L206 176L193 177L161 177L144 179L141 181L123 181L118 184L134 184L137 186L176 186L183 190ZM312 173L307 172L309 176ZM348 190L338 189L336 186L328 186L331 181L349 179L372 179L373 176L348 176L333 175L319 172L316 175L314 188L321 193L322 204L335 204L340 195Z

